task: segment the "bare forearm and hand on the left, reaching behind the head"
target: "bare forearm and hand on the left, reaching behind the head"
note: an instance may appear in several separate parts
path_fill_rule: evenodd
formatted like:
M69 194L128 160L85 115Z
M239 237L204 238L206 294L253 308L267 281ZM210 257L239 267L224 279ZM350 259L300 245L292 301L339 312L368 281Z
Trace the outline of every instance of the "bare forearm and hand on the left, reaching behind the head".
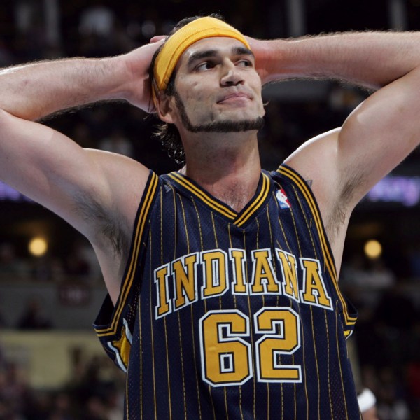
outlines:
M25 120L92 102L125 99L148 111L148 66L160 42L118 57L59 59L0 70L0 109Z

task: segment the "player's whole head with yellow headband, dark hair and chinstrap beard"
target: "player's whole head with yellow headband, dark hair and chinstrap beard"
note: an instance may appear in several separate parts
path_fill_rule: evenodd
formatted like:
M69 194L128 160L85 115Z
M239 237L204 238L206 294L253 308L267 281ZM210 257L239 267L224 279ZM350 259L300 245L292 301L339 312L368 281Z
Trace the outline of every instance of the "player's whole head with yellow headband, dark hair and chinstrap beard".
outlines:
M260 78L248 41L219 17L179 22L155 53L153 99L165 121L157 133L169 155L182 161L179 135L241 132L262 127Z

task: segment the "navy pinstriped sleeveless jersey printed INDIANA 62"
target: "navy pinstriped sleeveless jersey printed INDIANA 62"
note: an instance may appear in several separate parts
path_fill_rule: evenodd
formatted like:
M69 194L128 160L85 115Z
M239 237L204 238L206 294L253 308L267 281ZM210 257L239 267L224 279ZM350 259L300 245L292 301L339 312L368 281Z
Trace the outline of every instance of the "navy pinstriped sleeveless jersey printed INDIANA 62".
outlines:
M239 212L151 172L95 330L127 372L127 419L354 420L355 322L314 195L281 165Z

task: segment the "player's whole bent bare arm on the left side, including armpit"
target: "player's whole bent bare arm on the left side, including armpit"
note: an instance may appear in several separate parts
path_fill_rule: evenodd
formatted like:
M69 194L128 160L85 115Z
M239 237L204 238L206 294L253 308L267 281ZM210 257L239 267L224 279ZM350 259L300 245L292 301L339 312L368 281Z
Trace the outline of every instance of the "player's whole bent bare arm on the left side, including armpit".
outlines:
M148 169L122 155L83 149L35 121L112 99L148 110L148 67L158 46L148 44L118 57L63 59L0 71L0 179L90 239L113 300Z

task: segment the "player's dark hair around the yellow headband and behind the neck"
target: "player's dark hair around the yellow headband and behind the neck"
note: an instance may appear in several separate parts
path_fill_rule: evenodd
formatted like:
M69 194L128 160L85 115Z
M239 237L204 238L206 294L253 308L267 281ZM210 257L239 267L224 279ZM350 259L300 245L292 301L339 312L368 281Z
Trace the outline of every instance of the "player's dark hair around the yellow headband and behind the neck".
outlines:
M219 20L223 20L224 18L221 15L218 15L217 13L212 13L209 15L211 18L216 18ZM172 31L169 33L167 38L165 39L165 42L179 29L182 27L188 25L188 23L193 22L194 20L202 18L202 16L193 16L190 18L184 18L180 20L172 29ZM160 50L162 50L162 46L158 48L158 50L155 51L155 54L153 55L151 66L149 67L149 78L151 80L151 85L153 85L155 76L154 76L154 69L155 69L155 61L156 57L158 57L158 54ZM175 94L175 76L176 71L174 71L171 75L171 78L169 79L169 83L167 85L167 88L165 90L165 94L169 96L174 96ZM169 123L162 123L160 122L157 127L155 134L158 139L162 142L163 148L167 151L169 158L172 158L175 160L176 163L184 163L185 162L185 152L183 148L183 144L181 141L181 136L179 135L178 129L175 127L174 124Z

